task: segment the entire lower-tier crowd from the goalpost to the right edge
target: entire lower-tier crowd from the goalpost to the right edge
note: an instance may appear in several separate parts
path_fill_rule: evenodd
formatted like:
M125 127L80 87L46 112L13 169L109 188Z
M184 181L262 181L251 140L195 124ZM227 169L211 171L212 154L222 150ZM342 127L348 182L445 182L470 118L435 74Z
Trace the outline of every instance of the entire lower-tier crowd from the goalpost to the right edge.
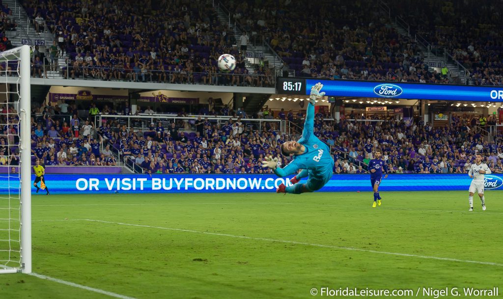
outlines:
M32 122L33 159L43 159L49 166L117 165L116 154L120 152L121 159L130 160L145 173L269 173L262 168L262 159L272 155L286 165L289 161L280 154L280 145L299 137L281 134L268 122L259 131L253 122L242 122L242 114L230 116L227 107L218 114L214 110L210 113L229 116L221 125L202 116L191 133L183 132L181 120L152 123L143 131L126 128L116 120L95 126L80 122L76 108L72 108L75 106L68 110L74 112L69 123L54 120L59 107L33 111L42 112ZM128 106L120 111L105 108L104 113L111 119L113 115L131 115ZM301 112L294 115L291 111L277 115L262 111L254 116L292 121L303 117ZM503 142L483 141L478 117L453 115L452 126L437 128L418 118L409 127L392 119L371 123L324 118L327 115L316 114L314 134L331 146L334 173L365 173L376 149L382 151L391 173L466 173L478 152L484 154L492 172L503 172ZM489 116L487 125L493 124L495 119ZM3 159L8 159L6 147L0 151Z

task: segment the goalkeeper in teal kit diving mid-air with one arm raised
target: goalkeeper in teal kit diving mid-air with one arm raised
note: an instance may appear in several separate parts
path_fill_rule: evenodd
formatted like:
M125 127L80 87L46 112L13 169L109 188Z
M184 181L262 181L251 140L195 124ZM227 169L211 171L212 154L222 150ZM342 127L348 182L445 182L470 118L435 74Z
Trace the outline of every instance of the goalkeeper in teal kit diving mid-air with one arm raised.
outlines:
M281 184L276 190L277 193L300 194L316 191L321 189L332 177L333 158L330 156L330 149L327 144L313 134L314 104L317 99L325 94L319 92L321 87L323 87L321 83L316 83L311 87L302 137L297 142L287 141L281 145L283 155L293 154L294 160L284 168L277 167L277 158L266 157L265 161L262 162L263 167L273 169L274 173L279 177L296 173L299 169L302 169L299 174L290 180L293 185L286 187ZM304 177L308 177L307 182L305 184L299 183L299 180Z

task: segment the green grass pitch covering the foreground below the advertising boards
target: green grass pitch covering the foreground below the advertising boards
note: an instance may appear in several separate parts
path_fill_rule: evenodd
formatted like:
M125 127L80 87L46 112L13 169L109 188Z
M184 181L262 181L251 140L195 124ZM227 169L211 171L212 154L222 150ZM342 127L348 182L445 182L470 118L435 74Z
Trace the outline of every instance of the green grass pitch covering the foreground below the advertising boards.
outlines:
M34 195L33 271L138 299L499 287L503 192ZM67 220L65 220L67 218ZM97 221L91 221L97 220ZM475 261L475 262L470 262ZM421 296L420 296L421 297ZM112 298L24 274L0 298Z

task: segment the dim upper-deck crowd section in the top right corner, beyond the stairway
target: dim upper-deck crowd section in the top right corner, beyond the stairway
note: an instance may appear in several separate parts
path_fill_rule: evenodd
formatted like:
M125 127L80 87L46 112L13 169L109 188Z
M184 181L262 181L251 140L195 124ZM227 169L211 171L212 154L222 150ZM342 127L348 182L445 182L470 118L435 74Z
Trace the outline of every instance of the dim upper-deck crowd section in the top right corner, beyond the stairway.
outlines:
M503 85L501 2L481 0L475 7L467 1L386 3L393 14L409 23L412 35L420 34L441 51L447 48L468 69L473 84Z

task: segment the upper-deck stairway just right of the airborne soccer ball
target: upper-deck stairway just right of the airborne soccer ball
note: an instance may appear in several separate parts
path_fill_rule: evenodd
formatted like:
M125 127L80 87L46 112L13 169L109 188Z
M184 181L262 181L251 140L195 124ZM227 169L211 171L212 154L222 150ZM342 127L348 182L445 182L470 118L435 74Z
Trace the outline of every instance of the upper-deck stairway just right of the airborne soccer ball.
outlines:
M213 3L213 8L217 11L218 13L218 19L220 19L220 22L222 24L227 24L229 27L229 31L233 32L234 35L234 41L236 47L238 47L237 43L239 41L239 37L241 36L241 29L239 26L236 25L235 21L232 19L230 16L230 12L227 11L227 9L223 6L222 3ZM262 38L261 38L262 40ZM250 40L248 42L247 46L247 51L248 53L251 53L252 57L246 57L246 68L248 69L248 72L250 74L253 74L255 72L255 67L259 65L261 58L264 60L264 65L269 68L274 68L274 69L281 69L283 66L283 60L279 55L274 53L272 49L267 46L259 46L250 37Z

